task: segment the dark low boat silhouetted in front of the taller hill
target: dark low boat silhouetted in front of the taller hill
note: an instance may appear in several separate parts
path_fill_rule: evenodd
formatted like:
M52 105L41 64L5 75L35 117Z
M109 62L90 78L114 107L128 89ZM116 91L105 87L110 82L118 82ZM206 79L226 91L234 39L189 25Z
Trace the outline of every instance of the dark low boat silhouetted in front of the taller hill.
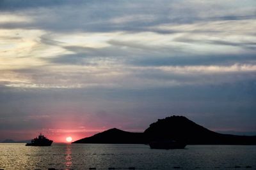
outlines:
M152 141L149 143L151 149L162 149L162 150L172 150L172 149L184 149L186 143L175 141L175 140L162 140L162 141Z

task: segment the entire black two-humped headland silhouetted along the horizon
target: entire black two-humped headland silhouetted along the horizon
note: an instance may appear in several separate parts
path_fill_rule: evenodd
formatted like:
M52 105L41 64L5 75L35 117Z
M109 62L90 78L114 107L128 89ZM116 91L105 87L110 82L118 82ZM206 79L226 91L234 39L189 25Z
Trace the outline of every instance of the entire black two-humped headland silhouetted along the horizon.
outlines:
M182 116L159 119L144 132L126 132L114 128L73 143L148 144L150 141L162 139L186 141L188 145L256 145L256 136L220 134Z

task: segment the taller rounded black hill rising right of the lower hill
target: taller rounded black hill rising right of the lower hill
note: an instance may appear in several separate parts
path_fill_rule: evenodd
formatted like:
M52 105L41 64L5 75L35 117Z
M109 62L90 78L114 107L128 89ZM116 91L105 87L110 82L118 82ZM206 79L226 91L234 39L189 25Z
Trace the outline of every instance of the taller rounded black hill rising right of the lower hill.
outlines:
M189 145L256 145L256 136L220 134L179 116L159 119L144 134L148 141L171 137Z

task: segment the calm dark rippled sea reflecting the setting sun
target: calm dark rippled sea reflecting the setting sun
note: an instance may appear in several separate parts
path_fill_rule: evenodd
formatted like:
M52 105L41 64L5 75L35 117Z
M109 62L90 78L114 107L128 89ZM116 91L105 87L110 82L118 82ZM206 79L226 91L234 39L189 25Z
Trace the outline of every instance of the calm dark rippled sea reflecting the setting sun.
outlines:
M0 169L256 169L256 146L188 145L151 150L147 145L0 144Z

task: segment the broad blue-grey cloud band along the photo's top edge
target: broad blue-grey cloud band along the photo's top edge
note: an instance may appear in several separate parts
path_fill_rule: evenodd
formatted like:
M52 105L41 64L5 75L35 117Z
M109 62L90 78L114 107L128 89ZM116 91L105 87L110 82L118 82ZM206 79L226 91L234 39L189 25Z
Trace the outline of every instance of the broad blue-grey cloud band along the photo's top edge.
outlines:
M112 31L156 31L150 27L160 24L188 24L198 21L227 20L227 18L253 18L251 11L244 10L237 15L225 13L221 3L216 7L220 10L215 18L209 15L207 9L211 6L204 4L204 8L196 3L186 1L0 1L2 10L13 9L16 13L33 18L31 23L2 23L0 27L14 29L45 29L56 32L112 32ZM223 3L225 4L225 3ZM40 8L38 8L40 7ZM26 11L19 11L26 9ZM76 10L74 10L76 9ZM204 11L202 18L200 10ZM183 12L186 11L186 12ZM15 13L15 12L14 12ZM61 13L61 15L60 15ZM140 16L144 16L141 18ZM223 17L219 17L223 15ZM127 16L132 20L127 20ZM246 17L247 16L247 17ZM150 18L150 19L149 19ZM117 20L117 22L115 22ZM120 20L120 22L119 22ZM57 24L58 23L58 24ZM168 33L172 31L167 31Z

